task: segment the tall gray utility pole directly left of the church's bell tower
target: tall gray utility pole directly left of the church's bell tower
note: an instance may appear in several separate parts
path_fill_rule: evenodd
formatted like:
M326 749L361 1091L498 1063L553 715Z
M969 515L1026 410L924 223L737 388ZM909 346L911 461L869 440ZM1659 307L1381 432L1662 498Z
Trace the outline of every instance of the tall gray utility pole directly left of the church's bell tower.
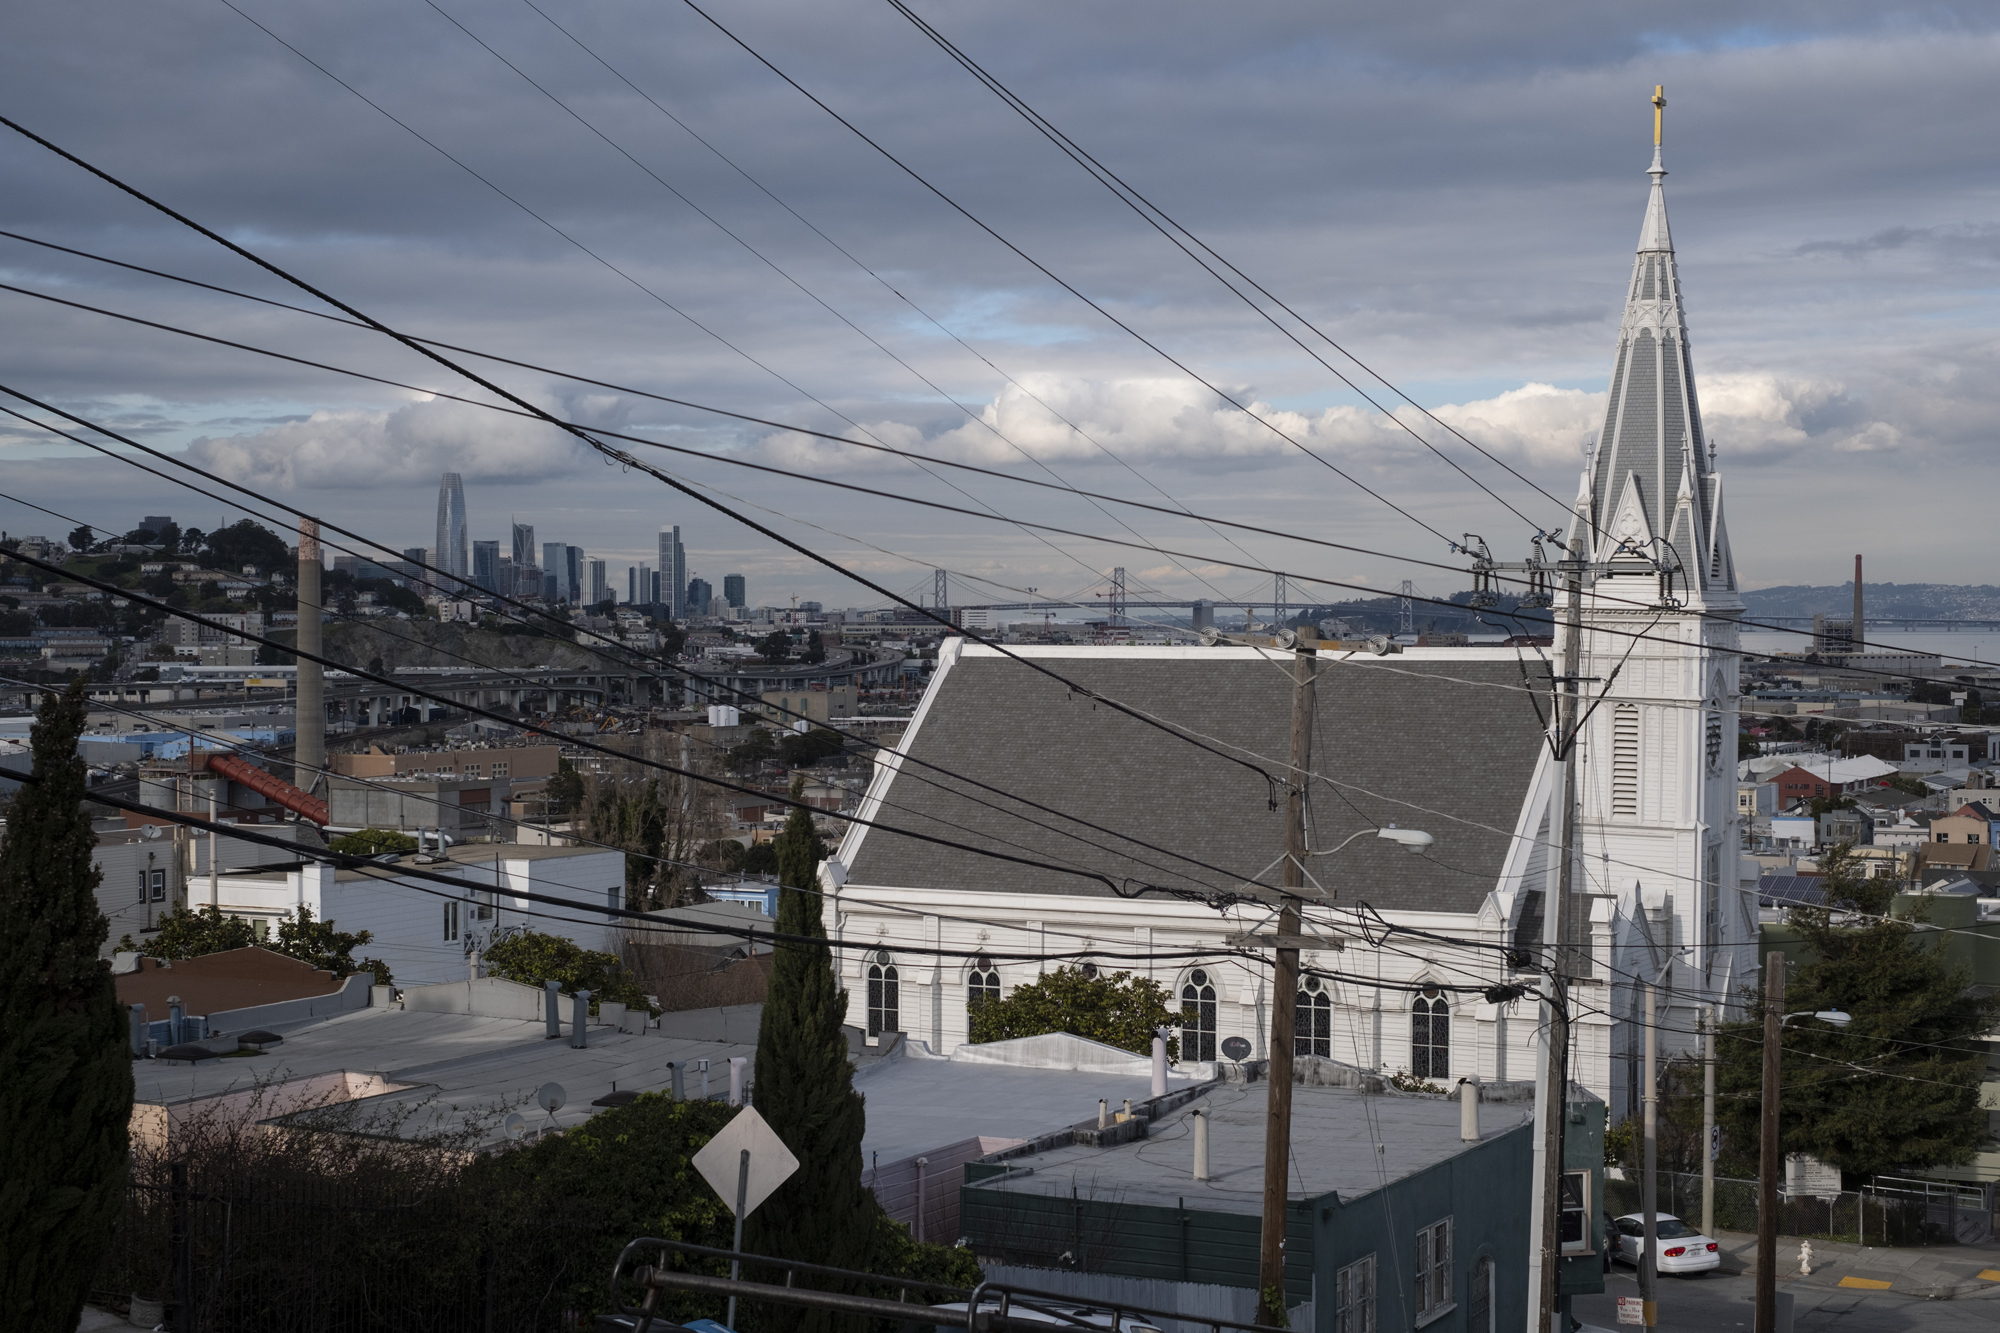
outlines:
M1564 642L1562 675L1556 679L1560 693L1554 709L1554 759L1556 791L1550 795L1548 833L1554 843L1548 849L1548 879L1542 891L1542 951L1548 973L1542 979L1542 1023L1548 1033L1544 1041L1544 1065L1540 1075L1540 1105L1536 1117L1534 1155L1534 1195L1530 1225L1534 1229L1528 1249L1530 1293L1534 1297L1534 1333L1566 1333L1558 1329L1562 1313L1562 1125L1568 1119L1570 1103L1570 1009L1564 977L1570 967L1570 889L1572 861L1570 845L1576 837L1574 807L1570 795L1576 787L1576 687L1584 660L1584 532L1582 524L1570 536L1568 558L1560 562L1564 574ZM1586 1219L1588 1225L1588 1219Z

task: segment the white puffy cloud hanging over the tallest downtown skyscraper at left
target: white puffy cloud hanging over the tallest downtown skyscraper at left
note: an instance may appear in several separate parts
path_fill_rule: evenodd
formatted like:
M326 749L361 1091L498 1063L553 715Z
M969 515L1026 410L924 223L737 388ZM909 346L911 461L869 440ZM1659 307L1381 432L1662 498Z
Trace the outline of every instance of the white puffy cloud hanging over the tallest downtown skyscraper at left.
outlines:
M252 434L202 436L188 456L246 486L368 490L466 480L536 480L574 468L582 446L554 426L464 402L388 412L320 410Z

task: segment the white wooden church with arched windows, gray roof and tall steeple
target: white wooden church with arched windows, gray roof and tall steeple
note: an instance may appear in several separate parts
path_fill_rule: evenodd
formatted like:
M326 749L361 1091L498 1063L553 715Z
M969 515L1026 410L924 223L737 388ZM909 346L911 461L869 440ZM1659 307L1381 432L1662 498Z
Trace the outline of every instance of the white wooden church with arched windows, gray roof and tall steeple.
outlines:
M1614 1121L1636 1109L1638 981L1660 979L1660 1045L1674 1053L1756 965L1754 895L1736 865L1742 602L1664 174L1656 154L1610 406L1572 516L1610 570L1584 606L1580 675L1596 679L1584 687L1596 707L1574 787L1572 1077ZM1666 582L1662 564L1676 570ZM1534 995L1488 1003L1482 991L1534 985L1556 775L1542 719L1560 650L1318 656L1304 919L1326 947L1302 957L1298 1055L1446 1087L1534 1077ZM1152 977L1180 1003L1184 1065L1242 1051L1232 1037L1262 1057L1270 961L1230 941L1274 929L1258 899L1284 849L1290 654L1008 652L1210 749L948 638L900 747L876 763L860 809L874 827L850 827L822 867L828 931L872 945L840 953L848 1021L944 1053L968 1039L976 997L1058 965L1010 955L1078 955ZM1388 825L1432 843L1412 855L1372 835ZM940 947L974 957L924 953Z

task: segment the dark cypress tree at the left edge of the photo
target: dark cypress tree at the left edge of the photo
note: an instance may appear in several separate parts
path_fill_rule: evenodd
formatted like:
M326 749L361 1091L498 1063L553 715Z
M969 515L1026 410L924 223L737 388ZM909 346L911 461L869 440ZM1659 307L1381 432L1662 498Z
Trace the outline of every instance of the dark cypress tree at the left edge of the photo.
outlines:
M96 835L84 813L84 687L46 695L0 843L0 1309L12 1329L68 1333L126 1187L132 1055L98 961ZM18 1321L18 1323L16 1323Z

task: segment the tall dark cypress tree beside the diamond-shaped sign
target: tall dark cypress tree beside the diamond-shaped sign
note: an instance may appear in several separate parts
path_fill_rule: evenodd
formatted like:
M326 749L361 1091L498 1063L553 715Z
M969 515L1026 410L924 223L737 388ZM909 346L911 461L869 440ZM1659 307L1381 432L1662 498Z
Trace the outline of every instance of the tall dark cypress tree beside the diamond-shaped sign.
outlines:
M826 939L812 883L818 837L806 811L792 811L776 851L778 931ZM778 945L758 1027L754 1097L758 1113L798 1157L798 1171L750 1215L744 1247L866 1271L876 1259L880 1205L862 1187L866 1119L848 1065L848 1039L840 1031L846 1009L826 945ZM802 1333L864 1325L832 1311L786 1309L782 1315L784 1327Z

